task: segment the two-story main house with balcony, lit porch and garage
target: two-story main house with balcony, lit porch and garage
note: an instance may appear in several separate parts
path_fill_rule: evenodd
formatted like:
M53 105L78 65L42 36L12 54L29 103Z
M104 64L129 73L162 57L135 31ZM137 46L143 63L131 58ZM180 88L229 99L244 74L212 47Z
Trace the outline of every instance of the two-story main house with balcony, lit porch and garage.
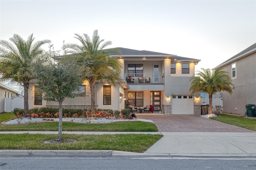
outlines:
M120 77L123 83L114 86L108 82L96 85L96 108L121 110L126 102L135 107L152 105L154 112L164 114L200 113L200 93L191 95L190 77L194 76L199 59L192 59L118 47L122 55L112 53L122 65ZM65 99L65 108L90 109L90 87L88 82L80 86L76 97ZM34 85L30 86L29 107L58 107L57 102L42 101L37 97ZM138 111L139 112L139 111Z

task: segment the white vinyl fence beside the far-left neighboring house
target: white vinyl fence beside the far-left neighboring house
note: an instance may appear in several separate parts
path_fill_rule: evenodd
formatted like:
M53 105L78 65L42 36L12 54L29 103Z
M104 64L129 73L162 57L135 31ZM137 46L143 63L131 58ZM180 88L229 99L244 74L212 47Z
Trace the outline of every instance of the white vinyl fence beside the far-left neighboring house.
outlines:
M14 108L24 109L24 98L4 98L4 112L13 112Z

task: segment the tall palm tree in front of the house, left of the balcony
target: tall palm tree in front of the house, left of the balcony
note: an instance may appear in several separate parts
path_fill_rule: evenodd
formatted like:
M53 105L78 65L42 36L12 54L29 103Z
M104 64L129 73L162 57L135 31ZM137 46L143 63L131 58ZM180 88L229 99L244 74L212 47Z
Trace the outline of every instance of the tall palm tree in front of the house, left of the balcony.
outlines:
M81 36L75 34L82 45L75 43L67 43L63 45L63 49L67 53L76 54L78 64L81 66L81 71L84 80L87 80L90 85L91 92L91 112L95 113L95 84L96 82L108 81L116 85L116 81L121 83L120 73L122 65L117 58L111 57L110 53L120 53L116 49L103 48L111 45L112 42L100 40L98 30L94 30L92 39L87 34ZM104 42L104 43L102 43ZM101 45L102 43L102 45Z

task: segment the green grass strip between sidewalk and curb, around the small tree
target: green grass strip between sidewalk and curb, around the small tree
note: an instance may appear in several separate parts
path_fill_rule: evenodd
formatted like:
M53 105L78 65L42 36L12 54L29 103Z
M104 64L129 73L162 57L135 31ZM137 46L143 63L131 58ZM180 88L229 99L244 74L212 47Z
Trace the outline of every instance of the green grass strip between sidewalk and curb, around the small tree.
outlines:
M0 149L18 150L119 150L144 152L162 137L161 134L63 134L65 139L76 142L47 144L56 139L55 134L1 134Z

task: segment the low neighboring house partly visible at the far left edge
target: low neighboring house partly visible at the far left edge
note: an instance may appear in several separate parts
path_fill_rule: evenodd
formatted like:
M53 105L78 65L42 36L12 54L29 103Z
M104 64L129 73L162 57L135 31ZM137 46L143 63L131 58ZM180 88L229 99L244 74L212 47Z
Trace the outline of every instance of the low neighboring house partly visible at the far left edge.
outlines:
M15 98L17 91L0 84L0 113L4 112L4 98Z

